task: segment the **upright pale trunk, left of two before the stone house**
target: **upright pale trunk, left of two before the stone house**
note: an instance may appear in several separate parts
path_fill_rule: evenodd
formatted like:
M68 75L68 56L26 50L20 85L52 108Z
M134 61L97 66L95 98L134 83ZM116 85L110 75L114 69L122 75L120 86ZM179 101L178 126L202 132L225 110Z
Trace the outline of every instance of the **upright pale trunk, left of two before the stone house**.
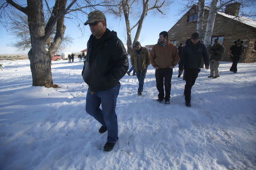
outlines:
M201 40L203 39L203 24L204 24L204 1L199 0L198 2L198 18L197 18L197 25L196 25L196 32L199 33Z

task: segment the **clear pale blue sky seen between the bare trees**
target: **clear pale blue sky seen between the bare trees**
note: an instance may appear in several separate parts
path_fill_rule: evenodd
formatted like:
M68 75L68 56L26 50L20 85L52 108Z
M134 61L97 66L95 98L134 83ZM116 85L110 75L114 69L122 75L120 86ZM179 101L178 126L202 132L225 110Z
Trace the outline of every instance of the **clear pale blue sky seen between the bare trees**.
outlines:
M179 3L172 3L166 15L149 13L143 22L143 27L139 41L141 44L155 44L158 40L159 33L161 31L168 31L174 24L181 18L179 10L183 6ZM85 16L85 19L87 16ZM126 44L126 27L124 19L115 18L113 15L106 14L107 27L109 30L117 32L117 36L122 40L123 44ZM85 20L84 20L85 22ZM132 22L132 21L131 21ZM80 23L81 24L81 23ZM81 31L80 27L77 27L78 23L76 19L65 19L65 26L67 27L65 35L70 36L73 39L71 44L67 45L67 48L63 52L79 52L86 48L86 43L90 36L89 26L85 26L84 30ZM83 29L83 28L82 28ZM135 33L134 33L135 35ZM0 25L0 54L16 54L16 53L27 53L28 51L20 51L17 48L10 47L10 43L15 40L15 37L8 34L5 28Z

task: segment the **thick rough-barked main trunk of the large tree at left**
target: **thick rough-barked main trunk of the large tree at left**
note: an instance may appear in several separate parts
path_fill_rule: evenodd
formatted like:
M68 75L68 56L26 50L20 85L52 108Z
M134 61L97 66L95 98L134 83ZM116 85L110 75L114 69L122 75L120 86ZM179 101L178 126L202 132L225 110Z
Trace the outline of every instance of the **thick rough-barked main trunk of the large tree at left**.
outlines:
M52 85L51 56L46 51L44 36L44 13L42 0L27 1L28 27L31 49L28 52L33 86Z

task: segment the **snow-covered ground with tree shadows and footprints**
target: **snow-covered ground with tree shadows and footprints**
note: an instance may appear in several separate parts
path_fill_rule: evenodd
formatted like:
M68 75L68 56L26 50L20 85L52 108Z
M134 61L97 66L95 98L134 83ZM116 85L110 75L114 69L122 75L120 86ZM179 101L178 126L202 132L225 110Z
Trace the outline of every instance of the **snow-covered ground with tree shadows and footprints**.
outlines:
M58 89L31 86L28 60L1 63L0 169L256 169L256 63L239 63L234 74L222 62L216 79L202 69L190 108L177 67L170 105L156 102L151 66L140 97L137 78L126 74L111 152L85 112L82 62L52 62Z

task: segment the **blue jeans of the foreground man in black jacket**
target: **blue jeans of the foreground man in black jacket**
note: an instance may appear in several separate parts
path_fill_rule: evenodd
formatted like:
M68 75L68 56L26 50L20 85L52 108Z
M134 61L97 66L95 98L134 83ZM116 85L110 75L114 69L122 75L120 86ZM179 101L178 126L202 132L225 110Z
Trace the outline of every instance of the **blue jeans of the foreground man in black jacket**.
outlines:
M115 106L117 105L117 96L120 86L121 85L118 84L112 89L98 91L95 94L90 94L88 90L86 96L86 112L108 129L108 142L111 143L115 143L118 140ZM100 105L102 109L100 109Z

